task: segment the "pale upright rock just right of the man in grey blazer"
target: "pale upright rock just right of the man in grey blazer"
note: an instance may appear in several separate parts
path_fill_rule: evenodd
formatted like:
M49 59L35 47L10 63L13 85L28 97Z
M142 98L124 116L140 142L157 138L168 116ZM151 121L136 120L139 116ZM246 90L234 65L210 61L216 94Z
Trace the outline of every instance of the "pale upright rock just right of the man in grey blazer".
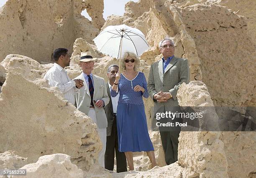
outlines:
M206 85L200 81L192 81L187 85L183 83L178 90L177 98L182 107L213 105ZM216 120L214 116L204 119ZM220 132L182 131L179 134L178 163L184 168L182 175L186 177L228 177L228 163Z

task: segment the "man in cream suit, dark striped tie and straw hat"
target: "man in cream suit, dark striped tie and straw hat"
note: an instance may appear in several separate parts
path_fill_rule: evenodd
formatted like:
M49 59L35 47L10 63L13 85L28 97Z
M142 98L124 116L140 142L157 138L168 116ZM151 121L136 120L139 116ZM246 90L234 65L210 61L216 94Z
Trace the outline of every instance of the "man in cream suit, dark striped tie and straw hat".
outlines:
M97 124L97 131L102 141L102 150L99 153L99 164L104 168L104 154L106 150L106 128L108 126L104 106L109 98L103 78L93 75L92 70L97 58L92 58L90 52L82 52L80 66L82 73L75 79L84 81L84 86L76 93L77 109L90 116Z

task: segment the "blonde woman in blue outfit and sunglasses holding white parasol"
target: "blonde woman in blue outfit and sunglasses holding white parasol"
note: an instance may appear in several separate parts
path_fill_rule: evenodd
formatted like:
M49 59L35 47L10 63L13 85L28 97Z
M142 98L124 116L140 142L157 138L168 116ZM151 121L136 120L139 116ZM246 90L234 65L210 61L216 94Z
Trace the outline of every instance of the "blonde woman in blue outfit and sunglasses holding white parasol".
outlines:
M148 98L145 75L136 71L140 60L126 52L121 60L123 73L115 75L110 91L112 97L120 93L117 108L118 150L125 152L129 170L133 167L133 152L146 151L152 168L156 166L154 147L148 135L142 96Z

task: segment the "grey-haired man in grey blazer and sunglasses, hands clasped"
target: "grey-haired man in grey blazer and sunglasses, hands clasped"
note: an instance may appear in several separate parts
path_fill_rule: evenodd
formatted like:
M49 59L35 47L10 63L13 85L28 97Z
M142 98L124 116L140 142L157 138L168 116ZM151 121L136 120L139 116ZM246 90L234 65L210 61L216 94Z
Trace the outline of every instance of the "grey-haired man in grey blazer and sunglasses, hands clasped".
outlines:
M185 82L189 83L189 64L187 59L174 56L174 43L165 38L159 43L162 60L153 63L148 76L148 92L154 100L154 113L181 112L177 91ZM181 118L168 117L160 119L161 123L182 123ZM166 164L172 164L178 160L178 143L180 127L159 127L161 141L165 153Z

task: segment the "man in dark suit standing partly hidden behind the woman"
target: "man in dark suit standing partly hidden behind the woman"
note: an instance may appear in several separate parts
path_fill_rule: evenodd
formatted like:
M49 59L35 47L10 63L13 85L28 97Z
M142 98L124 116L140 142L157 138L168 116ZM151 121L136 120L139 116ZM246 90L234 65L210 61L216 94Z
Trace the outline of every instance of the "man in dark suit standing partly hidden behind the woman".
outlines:
M118 132L116 123L116 111L119 94L111 97L110 90L115 82L115 74L118 72L118 65L108 67L108 83L106 84L110 102L105 106L105 113L108 120L107 127L107 145L105 152L105 169L113 170L114 158L116 157L116 170L118 173L127 171L126 157L124 153L118 151Z

